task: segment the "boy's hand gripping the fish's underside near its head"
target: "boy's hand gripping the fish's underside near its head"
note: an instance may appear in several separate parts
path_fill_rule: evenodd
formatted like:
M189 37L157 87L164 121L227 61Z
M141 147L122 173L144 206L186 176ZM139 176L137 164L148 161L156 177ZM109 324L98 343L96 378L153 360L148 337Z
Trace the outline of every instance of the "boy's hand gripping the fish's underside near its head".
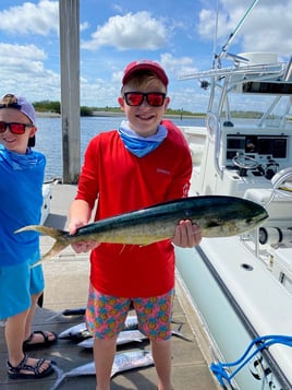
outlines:
M193 248L198 245L202 235L197 225L193 225L190 220L180 221L175 227L174 237L172 238L174 245L182 248Z

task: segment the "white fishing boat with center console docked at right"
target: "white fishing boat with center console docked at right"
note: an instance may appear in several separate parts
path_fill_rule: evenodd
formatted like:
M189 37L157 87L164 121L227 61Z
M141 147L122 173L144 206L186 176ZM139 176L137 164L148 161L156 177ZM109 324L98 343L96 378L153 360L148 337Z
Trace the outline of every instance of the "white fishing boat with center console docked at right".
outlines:
M243 236L175 248L178 280L222 388L291 390L292 60L231 55L231 37L210 70L184 76L210 90L206 126L182 128L193 155L190 194L247 198L269 217Z

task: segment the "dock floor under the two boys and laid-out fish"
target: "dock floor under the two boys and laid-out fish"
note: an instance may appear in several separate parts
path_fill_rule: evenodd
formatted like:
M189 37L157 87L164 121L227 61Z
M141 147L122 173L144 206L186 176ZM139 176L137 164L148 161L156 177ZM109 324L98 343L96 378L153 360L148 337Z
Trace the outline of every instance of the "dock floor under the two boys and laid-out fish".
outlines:
M46 225L64 228L69 204L75 194L75 186L52 186L52 199L49 217ZM50 248L52 240L41 237L41 252ZM60 256L44 263L46 289L42 308L37 308L34 320L34 329L51 330L60 333L64 329L83 322L82 316L63 316L64 309L84 307L87 299L88 288L88 255L75 255L71 248L65 249ZM208 364L200 345L203 338L196 333L195 322L197 319L185 300L180 283L177 286L177 297L173 309L173 320L183 322L181 332L191 336L192 341L185 341L173 336L173 387L175 390L212 390L217 389L215 379L208 369ZM175 323L173 328L178 327ZM53 374L44 379L11 380L7 376L7 347L3 338L3 326L0 327L0 388L4 390L49 390L57 378ZM148 347L148 342L132 343L118 351ZM49 348L32 351L29 356L46 357L57 363L63 371L93 362L93 353L82 350L72 341L59 340ZM73 377L65 379L60 389L95 389L95 376ZM155 368L147 367L118 374L112 378L112 390L138 389L155 390Z

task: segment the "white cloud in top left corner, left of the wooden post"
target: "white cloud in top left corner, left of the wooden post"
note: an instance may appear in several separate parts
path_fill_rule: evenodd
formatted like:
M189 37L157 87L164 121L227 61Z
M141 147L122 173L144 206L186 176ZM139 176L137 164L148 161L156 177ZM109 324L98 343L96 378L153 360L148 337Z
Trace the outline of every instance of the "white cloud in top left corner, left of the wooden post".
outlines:
M59 2L24 2L0 12L0 29L10 34L48 35L59 31Z

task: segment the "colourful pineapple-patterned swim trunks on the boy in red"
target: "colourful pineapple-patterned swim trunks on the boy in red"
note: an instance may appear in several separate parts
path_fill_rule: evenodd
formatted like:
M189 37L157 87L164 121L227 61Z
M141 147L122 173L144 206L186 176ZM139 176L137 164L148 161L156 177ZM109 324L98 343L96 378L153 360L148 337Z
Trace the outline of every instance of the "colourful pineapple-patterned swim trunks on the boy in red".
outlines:
M124 327L131 303L137 315L138 329L150 340L163 341L171 336L171 308L174 288L167 294L147 298L124 298L105 295L89 287L86 322L97 339L110 339Z

